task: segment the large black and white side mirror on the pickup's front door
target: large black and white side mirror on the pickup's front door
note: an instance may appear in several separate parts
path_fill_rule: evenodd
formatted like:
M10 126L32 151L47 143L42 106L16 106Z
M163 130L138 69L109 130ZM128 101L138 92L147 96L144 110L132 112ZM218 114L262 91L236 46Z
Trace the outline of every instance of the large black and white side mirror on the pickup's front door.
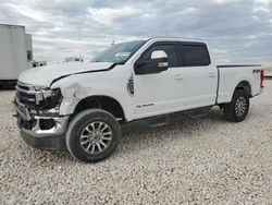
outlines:
M163 50L156 50L151 53L151 59L135 64L135 74L152 74L166 71L169 68L168 55Z

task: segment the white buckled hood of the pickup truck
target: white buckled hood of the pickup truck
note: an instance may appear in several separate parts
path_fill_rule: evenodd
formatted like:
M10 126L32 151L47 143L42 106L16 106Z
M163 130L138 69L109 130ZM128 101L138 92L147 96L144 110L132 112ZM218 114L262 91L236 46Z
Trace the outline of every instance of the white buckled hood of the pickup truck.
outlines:
M18 81L35 86L50 87L59 79L85 72L107 71L112 65L112 62L63 62L26 70L21 73Z

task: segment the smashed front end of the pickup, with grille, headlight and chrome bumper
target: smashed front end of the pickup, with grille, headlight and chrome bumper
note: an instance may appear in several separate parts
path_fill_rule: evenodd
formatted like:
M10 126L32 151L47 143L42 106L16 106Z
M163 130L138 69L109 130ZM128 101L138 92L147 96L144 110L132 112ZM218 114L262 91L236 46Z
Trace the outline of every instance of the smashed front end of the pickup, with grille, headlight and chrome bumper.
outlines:
M60 116L60 89L37 88L17 82L15 108L17 125L24 141L37 148L60 149L65 146L69 116Z

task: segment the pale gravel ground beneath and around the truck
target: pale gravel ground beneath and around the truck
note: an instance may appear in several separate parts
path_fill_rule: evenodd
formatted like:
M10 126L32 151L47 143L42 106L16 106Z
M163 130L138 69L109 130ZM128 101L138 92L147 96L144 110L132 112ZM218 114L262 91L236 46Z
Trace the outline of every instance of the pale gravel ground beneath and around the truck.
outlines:
M0 204L272 204L272 81L242 123L219 109L166 126L123 129L108 160L27 146L0 92Z

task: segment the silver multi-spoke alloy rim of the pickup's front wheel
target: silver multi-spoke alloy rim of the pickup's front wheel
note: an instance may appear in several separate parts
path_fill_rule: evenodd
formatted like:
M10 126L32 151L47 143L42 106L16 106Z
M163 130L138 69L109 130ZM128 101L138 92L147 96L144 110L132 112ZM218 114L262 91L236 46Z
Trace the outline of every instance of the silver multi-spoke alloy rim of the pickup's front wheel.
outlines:
M82 148L88 154L100 154L107 149L112 141L111 128L101 121L87 124L81 134Z

